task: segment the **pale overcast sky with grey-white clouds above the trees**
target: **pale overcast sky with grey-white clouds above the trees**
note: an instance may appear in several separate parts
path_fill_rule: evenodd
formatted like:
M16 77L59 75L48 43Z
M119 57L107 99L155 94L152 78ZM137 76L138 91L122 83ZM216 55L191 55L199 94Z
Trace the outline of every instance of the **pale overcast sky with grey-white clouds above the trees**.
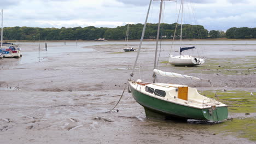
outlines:
M1 0L4 27L117 27L144 23L150 0ZM164 2L162 22L173 23L181 0ZM148 22L157 23L160 1ZM256 27L255 0L184 0L184 23L208 30Z

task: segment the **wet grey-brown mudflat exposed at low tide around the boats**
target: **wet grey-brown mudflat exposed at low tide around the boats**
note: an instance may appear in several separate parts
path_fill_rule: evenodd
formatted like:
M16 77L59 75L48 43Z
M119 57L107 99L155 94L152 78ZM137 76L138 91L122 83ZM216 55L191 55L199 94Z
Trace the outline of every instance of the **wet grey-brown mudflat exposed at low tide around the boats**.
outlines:
M137 55L123 52L122 43L48 42L48 51L42 43L38 52L37 44L26 42L20 43L21 58L0 59L0 143L255 143L253 131L241 137L240 130L220 128L232 119L249 119L255 128L255 40L197 41L207 58L198 67L168 64L170 43L161 46L159 69L210 79L214 87L161 76L158 81L196 87L209 97L219 93L230 106L222 123L147 119L127 91L106 113L117 104ZM137 49L138 41L131 46ZM132 79L152 82L154 47L153 41L142 46Z

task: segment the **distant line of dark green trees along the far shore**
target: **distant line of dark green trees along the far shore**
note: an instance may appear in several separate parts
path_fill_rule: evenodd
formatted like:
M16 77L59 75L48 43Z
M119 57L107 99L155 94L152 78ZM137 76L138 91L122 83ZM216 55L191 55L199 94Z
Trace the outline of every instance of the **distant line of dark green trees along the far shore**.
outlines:
M181 38L181 25L177 25L174 39ZM144 39L156 38L158 24L147 23ZM176 23L161 23L160 35L162 39L173 39ZM74 28L38 28L38 27L5 27L4 40L94 40L105 38L109 40L125 39L127 25L116 28L106 27L74 27ZM140 39L143 25L129 25L129 39ZM226 31L207 31L200 25L183 25L183 39L206 39L206 38L256 38L256 28L236 28L232 27Z

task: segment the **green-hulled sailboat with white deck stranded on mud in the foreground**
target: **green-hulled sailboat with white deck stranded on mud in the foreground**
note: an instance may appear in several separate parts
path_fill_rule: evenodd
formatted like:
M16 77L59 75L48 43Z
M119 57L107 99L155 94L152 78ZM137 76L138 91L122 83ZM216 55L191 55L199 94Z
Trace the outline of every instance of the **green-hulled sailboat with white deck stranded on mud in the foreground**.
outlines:
M199 94L196 88L170 83L155 83L156 74L168 77L183 77L200 81L205 80L198 77L165 72L156 69L156 56L158 51L162 2L172 0L159 1L161 1L161 3L158 34L156 36L155 62L153 73L154 81L153 83L148 83L141 80L133 81L130 79L128 83L129 92L131 92L132 97L137 101L137 103L144 107L146 116L149 118L169 119L176 117L182 119L200 119L214 122L223 121L228 117L228 107L225 104ZM137 57L135 60L135 64L133 65L131 77L133 76L139 52L141 50L151 3L152 0L149 3L148 13L142 31L141 43L139 44Z

